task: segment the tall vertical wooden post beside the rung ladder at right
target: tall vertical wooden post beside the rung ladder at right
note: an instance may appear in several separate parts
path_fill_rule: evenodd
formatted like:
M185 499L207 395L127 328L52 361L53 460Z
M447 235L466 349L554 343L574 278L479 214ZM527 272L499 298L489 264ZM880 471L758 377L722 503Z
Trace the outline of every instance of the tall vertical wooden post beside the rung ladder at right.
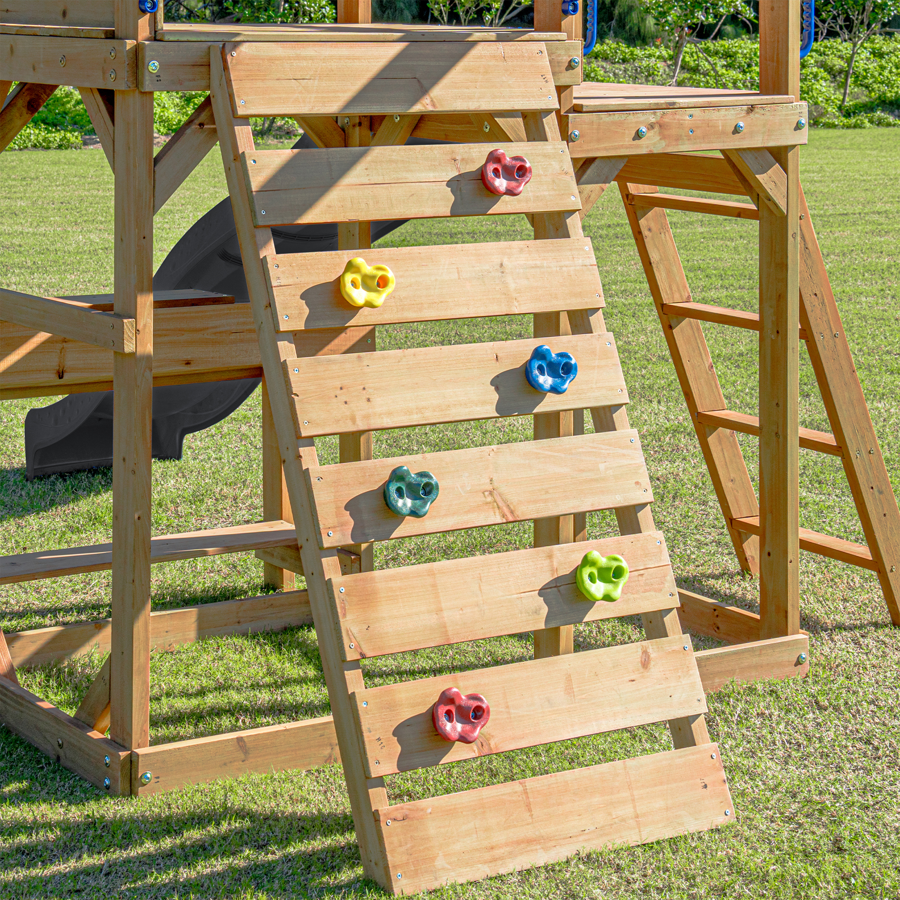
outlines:
M760 4L760 91L800 94L799 0ZM760 204L761 638L800 630L799 148L770 148L788 175L787 215Z

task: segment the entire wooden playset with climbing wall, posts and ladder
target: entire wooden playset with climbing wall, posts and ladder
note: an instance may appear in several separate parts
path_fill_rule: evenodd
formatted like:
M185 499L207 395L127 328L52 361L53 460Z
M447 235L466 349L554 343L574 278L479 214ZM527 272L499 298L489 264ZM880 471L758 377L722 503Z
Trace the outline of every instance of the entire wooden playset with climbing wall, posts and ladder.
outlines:
M171 25L152 6L0 4L0 149L54 85L76 85L115 173L116 217L111 297L0 292L3 397L112 386L116 398L112 545L0 559L4 583L112 569L112 618L0 634L4 724L119 795L340 761L365 873L394 893L733 819L705 695L807 670L799 550L878 572L900 625L900 514L797 175L799 0L761 3L759 93L581 85L580 20L559 0L537 0L534 31L369 24L366 0L338 0L333 26ZM154 157L156 90L210 94ZM257 150L248 120L274 115L296 118L318 148ZM153 216L217 142L250 302L155 296ZM720 153L696 152L707 150ZM653 526L581 230L613 183L735 551L759 575L759 616L678 590ZM759 220L758 315L692 301L667 209ZM373 220L513 213L527 214L534 241L370 245ZM272 229L319 222L338 223L337 251L275 254ZM375 348L381 324L522 313L534 338ZM727 410L704 320L760 332L758 419ZM799 428L801 339L833 435ZM151 537L153 385L251 375L264 378L266 521ZM374 430L524 415L534 441L373 459ZM735 431L760 437L759 500ZM336 433L340 462L320 465L315 437ZM868 547L799 528L800 446L842 457ZM585 545L598 509L615 509L621 536ZM523 520L530 549L373 571L376 541ZM150 611L152 563L242 551L285 590ZM291 590L294 573L307 590ZM636 614L644 641L572 653L575 623ZM332 716L149 745L152 648L310 622ZM694 653L682 626L730 645ZM365 658L528 631L533 660L365 686ZM16 668L92 647L109 656L76 716L18 685ZM397 772L662 721L671 752L388 796ZM462 819L477 857L445 853Z

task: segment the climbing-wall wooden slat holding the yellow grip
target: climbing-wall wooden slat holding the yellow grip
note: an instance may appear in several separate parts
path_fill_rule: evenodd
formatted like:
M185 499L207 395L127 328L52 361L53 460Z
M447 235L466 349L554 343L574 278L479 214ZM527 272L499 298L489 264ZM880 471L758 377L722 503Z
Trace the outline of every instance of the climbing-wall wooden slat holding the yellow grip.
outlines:
M355 250L267 257L279 331L466 319L602 307L590 238L378 248L363 256L388 266L397 284L377 309L351 307L340 274ZM546 290L548 278L554 290Z

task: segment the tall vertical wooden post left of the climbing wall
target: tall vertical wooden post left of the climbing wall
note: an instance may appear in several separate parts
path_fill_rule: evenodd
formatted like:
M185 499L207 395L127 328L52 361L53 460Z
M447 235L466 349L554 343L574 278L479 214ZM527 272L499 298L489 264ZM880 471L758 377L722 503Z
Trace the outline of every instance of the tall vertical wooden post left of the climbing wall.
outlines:
M117 0L116 37L148 40L152 17ZM153 407L153 94L115 96L115 301L136 353L113 354L111 728L149 744L150 435Z

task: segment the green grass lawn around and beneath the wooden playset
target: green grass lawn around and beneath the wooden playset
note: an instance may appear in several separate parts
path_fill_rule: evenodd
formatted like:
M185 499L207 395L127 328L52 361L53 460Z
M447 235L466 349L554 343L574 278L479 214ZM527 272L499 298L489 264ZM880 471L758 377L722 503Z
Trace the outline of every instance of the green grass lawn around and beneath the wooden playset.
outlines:
M801 174L851 347L900 490L900 132L812 131ZM0 284L45 295L112 291L112 175L100 152L0 157ZM157 216L157 265L224 196L218 151ZM757 305L752 222L672 212L698 302ZM617 336L656 497L682 587L748 609L757 588L739 571L690 426L617 192L585 220L597 250L608 327ZM526 238L519 218L410 222L386 246ZM384 328L379 346L520 338L527 317ZM755 412L757 338L707 326L731 409ZM801 363L801 424L828 430L815 377ZM48 399L47 402L50 402ZM107 541L109 470L24 477L23 419L44 401L0 404L0 553ZM518 441L530 422L500 420L383 432L379 456ZM756 441L742 438L751 473ZM336 441L320 442L325 462ZM184 442L181 462L153 464L153 532L258 520L259 392L229 419ZM755 477L755 476L754 476ZM801 451L801 524L862 540L833 456ZM608 514L590 536L614 534ZM526 546L530 526L496 527L381 545L378 566ZM900 632L869 572L802 554L801 624L810 633L806 680L729 687L709 698L736 821L710 833L590 852L567 862L435 896L725 898L900 896ZM264 590L252 554L157 565L153 608ZM3 589L0 628L19 631L109 615L106 572ZM578 649L642 637L639 623L576 626ZM695 646L715 642L700 638ZM530 635L460 644L364 663L376 685L531 654ZM23 685L67 712L102 659L22 671ZM150 734L166 743L325 715L329 701L311 628L213 639L154 653ZM499 754L387 779L392 801L669 749L664 725ZM561 798L561 815L564 815ZM460 824L461 851L466 843ZM379 896L363 878L341 770L279 772L133 800L110 798L0 728L0 897Z

